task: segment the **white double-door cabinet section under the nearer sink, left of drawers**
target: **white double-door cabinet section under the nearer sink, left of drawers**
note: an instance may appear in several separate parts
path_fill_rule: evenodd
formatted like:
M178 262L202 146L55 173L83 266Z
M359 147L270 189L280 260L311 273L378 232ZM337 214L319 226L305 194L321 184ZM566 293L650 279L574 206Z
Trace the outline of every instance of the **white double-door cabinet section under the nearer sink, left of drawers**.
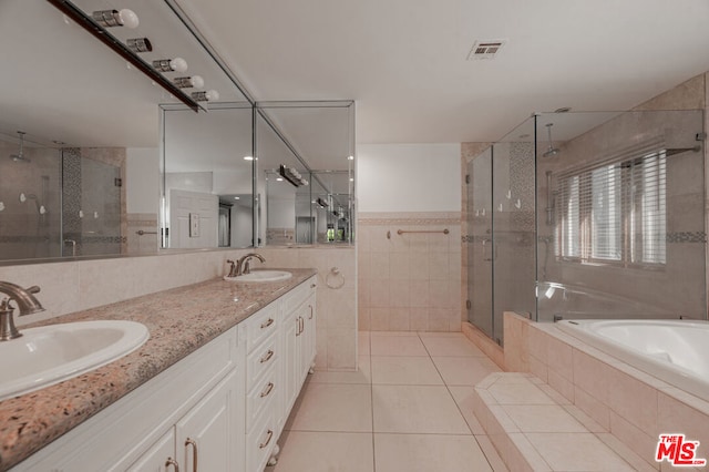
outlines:
M13 471L244 471L244 348L232 328Z

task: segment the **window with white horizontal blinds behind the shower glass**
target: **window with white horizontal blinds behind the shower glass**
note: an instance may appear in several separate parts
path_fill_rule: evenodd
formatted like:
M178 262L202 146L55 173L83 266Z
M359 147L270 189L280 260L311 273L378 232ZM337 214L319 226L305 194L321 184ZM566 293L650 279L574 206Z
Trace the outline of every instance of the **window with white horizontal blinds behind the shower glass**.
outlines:
M664 265L666 161L665 151L659 151L559 174L556 257L623 266Z

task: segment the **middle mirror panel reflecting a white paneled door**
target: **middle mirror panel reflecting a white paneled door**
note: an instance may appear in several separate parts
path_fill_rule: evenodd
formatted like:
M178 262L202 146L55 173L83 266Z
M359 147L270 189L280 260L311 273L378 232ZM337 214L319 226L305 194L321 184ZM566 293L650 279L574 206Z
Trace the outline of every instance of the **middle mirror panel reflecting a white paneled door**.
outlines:
M163 109L163 247L253 245L253 109Z

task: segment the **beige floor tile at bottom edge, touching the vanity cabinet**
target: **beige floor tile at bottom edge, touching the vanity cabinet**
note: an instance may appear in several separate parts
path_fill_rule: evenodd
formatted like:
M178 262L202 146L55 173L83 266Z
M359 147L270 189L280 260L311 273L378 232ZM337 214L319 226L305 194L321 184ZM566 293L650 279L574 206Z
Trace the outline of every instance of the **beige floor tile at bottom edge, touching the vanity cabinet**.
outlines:
M291 431L266 472L373 472L371 433Z

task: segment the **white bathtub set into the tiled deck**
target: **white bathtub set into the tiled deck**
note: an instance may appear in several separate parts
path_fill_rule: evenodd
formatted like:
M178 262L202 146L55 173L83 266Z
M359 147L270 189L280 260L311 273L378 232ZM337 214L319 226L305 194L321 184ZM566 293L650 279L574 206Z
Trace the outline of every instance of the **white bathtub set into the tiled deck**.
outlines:
M709 321L561 320L564 332L709 401Z

